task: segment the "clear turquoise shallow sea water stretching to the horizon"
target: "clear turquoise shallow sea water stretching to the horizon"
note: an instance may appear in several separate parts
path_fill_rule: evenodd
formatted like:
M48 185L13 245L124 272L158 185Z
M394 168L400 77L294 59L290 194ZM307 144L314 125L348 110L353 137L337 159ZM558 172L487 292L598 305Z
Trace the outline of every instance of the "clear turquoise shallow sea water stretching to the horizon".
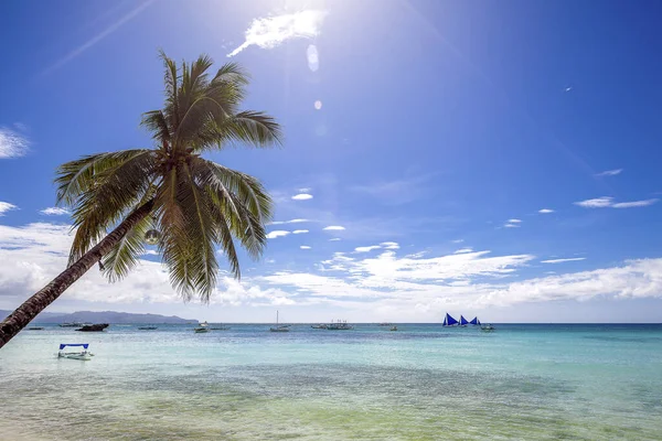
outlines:
M0 440L662 439L662 325L231 327L23 331Z

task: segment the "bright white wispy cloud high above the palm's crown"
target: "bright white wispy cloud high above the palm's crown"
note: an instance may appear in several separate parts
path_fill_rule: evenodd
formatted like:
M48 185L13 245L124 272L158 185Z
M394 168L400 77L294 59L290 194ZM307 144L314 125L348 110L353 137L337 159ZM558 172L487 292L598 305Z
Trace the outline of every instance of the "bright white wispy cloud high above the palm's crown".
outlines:
M314 37L320 34L327 12L307 10L264 19L255 19L245 32L241 46L227 54L235 56L248 46L273 49L290 39Z

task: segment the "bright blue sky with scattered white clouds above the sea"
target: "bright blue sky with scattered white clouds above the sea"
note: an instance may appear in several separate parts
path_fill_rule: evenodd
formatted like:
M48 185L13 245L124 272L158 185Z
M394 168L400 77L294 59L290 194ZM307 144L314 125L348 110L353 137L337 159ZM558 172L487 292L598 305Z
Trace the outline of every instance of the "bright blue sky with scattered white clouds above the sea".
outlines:
M268 250L243 257L241 283L222 273L209 306L183 304L147 255L119 283L92 270L51 311L662 321L661 8L3 2L0 309L66 261L68 216L42 213L55 166L150 146L138 122L162 103L161 47L241 63L246 108L284 125L282 149L211 154L271 192Z

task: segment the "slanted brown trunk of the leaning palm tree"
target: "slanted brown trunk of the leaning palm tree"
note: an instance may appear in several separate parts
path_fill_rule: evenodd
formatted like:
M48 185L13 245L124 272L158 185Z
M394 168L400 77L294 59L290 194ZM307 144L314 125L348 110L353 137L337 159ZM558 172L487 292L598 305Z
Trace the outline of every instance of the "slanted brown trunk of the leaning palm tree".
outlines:
M154 201L152 200L134 211L108 236L104 237L102 241L95 245L75 263L65 269L60 276L53 279L51 283L42 288L36 294L23 302L23 304L4 319L4 321L0 323L0 348L25 327L36 314L53 303L68 287L98 262L103 256L110 251L110 249L113 249L113 247L136 226L136 224L150 214L153 205Z

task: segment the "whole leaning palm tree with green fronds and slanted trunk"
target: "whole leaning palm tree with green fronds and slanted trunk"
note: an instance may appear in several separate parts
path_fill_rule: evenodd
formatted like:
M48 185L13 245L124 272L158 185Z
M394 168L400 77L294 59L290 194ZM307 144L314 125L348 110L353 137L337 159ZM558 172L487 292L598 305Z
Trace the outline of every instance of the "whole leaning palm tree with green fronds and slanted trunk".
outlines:
M280 142L280 126L263 112L239 110L248 77L236 64L211 77L213 62L205 55L180 66L160 56L164 107L143 114L141 121L154 147L92 154L57 169L57 203L71 207L76 228L68 268L0 323L0 347L95 263L110 281L126 276L145 250L146 235L158 241L170 281L184 300L209 301L217 246L236 278L235 240L250 257L261 255L269 195L257 179L202 153L274 146Z

